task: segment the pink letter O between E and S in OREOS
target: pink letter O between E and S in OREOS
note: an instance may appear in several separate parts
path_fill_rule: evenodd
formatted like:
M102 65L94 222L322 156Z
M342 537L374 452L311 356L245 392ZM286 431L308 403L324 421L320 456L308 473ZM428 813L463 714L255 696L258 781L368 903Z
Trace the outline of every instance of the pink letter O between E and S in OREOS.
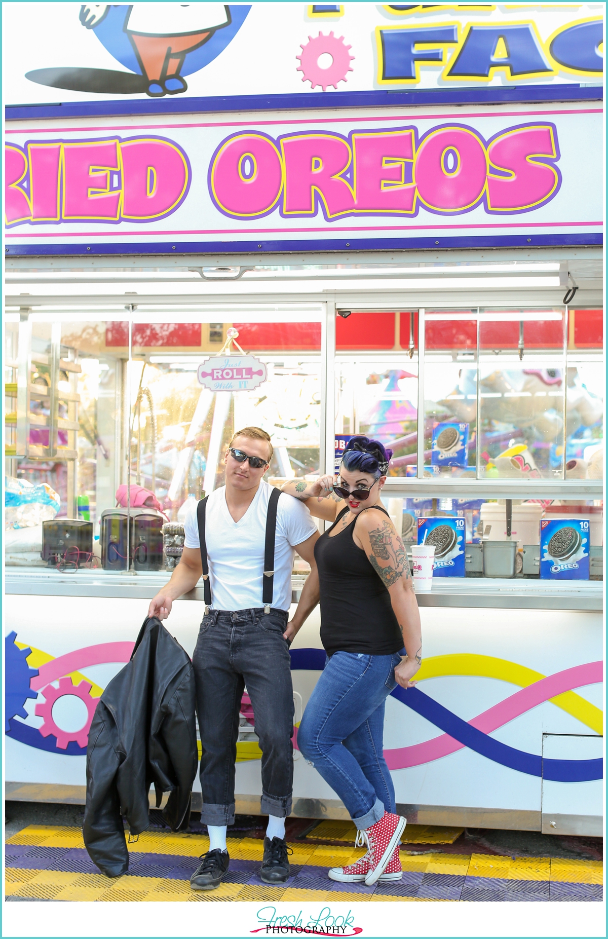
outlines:
M442 212L470 208L483 194L487 171L485 147L475 131L431 131L418 147L414 164L418 198Z

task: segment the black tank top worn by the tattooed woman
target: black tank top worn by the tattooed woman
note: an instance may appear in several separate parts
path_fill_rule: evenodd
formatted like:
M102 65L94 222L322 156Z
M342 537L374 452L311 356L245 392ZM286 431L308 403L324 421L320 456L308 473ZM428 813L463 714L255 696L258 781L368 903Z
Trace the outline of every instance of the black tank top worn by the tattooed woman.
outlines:
M388 516L381 506L373 508ZM321 594L321 641L328 655L399 652L403 649L403 637L390 604L390 594L363 548L353 541L355 522L340 534L329 537L329 532L346 512L348 506L314 546Z

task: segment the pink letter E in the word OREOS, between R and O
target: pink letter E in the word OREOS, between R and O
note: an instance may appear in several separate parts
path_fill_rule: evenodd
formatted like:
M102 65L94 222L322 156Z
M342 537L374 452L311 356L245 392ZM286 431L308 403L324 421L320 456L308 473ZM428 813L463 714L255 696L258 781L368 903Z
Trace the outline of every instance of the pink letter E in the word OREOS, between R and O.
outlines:
M364 212L413 212L416 185L405 182L414 161L414 131L354 133L355 203Z

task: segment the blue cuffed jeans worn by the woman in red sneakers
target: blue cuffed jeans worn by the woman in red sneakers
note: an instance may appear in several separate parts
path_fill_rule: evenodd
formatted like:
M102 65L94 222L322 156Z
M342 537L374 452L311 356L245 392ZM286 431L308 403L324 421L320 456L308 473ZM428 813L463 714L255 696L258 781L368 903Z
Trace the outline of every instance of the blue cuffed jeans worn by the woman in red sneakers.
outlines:
M383 754L385 702L401 655L337 652L312 692L297 746L337 793L359 829L395 811Z

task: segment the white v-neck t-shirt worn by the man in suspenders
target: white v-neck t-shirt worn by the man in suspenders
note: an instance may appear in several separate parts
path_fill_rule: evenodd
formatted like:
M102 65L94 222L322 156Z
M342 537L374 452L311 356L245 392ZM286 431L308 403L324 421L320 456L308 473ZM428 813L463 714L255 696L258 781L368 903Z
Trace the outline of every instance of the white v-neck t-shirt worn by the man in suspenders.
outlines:
M226 504L225 486L212 492L206 503L205 542L213 609L236 610L263 607L266 515L272 486L264 480L240 521ZM317 527L303 502L281 495L277 503L274 586L271 606L291 606L291 575L295 547L307 541ZM184 522L184 545L200 548L196 508Z

